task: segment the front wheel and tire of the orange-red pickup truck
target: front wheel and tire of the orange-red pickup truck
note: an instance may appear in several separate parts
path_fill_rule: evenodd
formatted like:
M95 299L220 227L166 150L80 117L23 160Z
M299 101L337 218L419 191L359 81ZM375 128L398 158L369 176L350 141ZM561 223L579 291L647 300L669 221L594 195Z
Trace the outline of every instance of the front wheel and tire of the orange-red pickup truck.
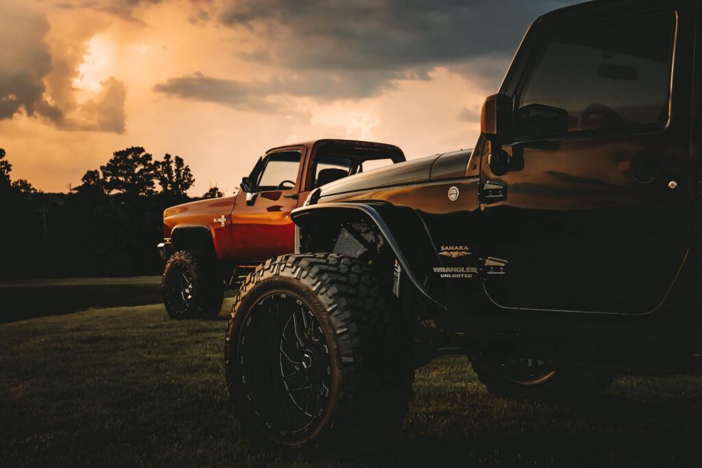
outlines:
M173 253L166 262L161 290L172 319L214 319L222 309L222 273L216 258L205 252Z

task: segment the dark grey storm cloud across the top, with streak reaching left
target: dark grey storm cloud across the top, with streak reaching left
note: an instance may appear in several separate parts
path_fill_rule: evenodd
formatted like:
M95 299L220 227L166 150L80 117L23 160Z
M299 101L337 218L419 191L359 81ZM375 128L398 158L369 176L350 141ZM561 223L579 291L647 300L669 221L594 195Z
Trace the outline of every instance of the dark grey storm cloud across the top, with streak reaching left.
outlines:
M237 55L275 65L277 76L265 83L183 76L155 89L255 109L253 102L270 95L369 98L398 79L430 79L443 66L493 91L530 22L572 3L237 0L219 11L218 21L255 39L255 48Z

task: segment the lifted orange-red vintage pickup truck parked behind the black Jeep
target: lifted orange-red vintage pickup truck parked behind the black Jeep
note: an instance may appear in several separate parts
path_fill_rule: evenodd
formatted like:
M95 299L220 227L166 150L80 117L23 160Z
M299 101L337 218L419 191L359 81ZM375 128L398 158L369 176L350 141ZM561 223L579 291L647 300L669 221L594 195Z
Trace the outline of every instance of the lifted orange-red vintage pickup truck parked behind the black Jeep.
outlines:
M164 211L162 289L176 319L213 318L225 286L267 258L295 250L292 210L312 190L348 175L404 161L394 145L315 140L269 149L232 196Z

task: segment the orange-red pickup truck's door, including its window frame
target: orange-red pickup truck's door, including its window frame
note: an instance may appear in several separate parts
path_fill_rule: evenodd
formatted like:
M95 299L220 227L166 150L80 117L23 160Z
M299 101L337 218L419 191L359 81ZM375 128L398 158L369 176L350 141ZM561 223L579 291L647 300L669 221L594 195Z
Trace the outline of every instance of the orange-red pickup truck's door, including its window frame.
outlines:
M298 206L300 161L305 147L267 154L251 174L253 191L239 192L232 212L232 257L257 265L295 251L290 212Z

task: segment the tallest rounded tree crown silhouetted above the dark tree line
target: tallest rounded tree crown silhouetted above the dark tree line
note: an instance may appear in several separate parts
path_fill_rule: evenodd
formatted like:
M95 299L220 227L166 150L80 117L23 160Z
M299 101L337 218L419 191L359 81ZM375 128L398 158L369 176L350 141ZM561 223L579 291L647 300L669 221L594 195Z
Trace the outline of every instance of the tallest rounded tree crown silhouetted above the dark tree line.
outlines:
M143 147L135 146L114 152L110 161L105 166L100 166L100 171L107 192L131 195L154 193L156 166L151 154L145 152Z

